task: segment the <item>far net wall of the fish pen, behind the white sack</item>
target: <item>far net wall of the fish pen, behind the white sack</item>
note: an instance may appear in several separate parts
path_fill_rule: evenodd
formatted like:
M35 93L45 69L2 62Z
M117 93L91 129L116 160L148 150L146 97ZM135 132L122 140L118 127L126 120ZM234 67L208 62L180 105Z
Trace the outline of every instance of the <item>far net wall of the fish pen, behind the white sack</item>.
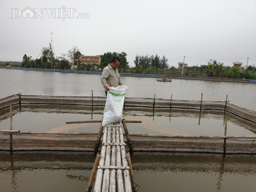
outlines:
M105 106L106 97L76 97L76 96L50 96L50 95L11 95L0 99L0 110L8 108L10 104L56 104L56 105L82 105ZM192 101L159 98L125 98L124 108L184 108L197 110L223 110L243 119L256 123L256 112L229 101Z

